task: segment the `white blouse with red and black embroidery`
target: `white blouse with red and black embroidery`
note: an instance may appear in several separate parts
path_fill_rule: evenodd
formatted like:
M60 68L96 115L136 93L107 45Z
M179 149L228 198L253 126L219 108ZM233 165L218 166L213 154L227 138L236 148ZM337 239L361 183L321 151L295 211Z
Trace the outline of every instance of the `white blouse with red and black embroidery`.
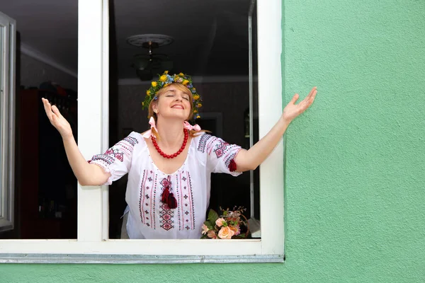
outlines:
M111 173L105 185L128 173L125 200L129 238L200 238L210 202L210 174L240 175L229 170L240 149L210 134L199 134L191 139L183 165L166 174L155 166L142 135L132 132L90 162ZM166 186L176 197L176 209L161 202Z

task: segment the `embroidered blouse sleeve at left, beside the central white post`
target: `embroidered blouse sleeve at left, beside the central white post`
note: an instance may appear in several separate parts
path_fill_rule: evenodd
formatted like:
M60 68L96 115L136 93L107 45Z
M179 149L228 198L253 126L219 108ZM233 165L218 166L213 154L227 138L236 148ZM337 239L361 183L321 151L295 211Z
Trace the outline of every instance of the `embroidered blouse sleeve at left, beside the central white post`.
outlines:
M104 154L96 154L89 161L91 164L101 166L107 173L111 173L111 177L103 185L111 185L113 181L118 180L130 171L132 153L136 144L139 143L135 134L137 133L132 132Z

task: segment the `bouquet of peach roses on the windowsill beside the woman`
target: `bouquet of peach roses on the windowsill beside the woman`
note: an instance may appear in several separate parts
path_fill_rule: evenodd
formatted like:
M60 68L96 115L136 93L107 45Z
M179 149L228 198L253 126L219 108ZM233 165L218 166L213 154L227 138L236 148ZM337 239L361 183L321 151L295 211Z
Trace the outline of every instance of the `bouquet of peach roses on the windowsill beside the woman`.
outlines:
M244 207L234 207L233 210L222 209L221 215L218 215L213 209L208 212L208 219L202 226L201 238L213 239L232 239L246 238L249 234L248 221L243 212Z

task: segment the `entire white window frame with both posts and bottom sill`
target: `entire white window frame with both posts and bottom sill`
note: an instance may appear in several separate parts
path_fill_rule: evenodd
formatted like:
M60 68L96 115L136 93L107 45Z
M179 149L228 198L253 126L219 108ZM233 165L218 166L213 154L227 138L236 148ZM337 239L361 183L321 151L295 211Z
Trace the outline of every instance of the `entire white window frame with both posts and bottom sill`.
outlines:
M259 136L282 113L281 0L258 1ZM108 148L108 1L79 0L79 148ZM77 239L0 241L0 262L283 262L283 140L261 164L261 239L108 239L108 187L78 186Z

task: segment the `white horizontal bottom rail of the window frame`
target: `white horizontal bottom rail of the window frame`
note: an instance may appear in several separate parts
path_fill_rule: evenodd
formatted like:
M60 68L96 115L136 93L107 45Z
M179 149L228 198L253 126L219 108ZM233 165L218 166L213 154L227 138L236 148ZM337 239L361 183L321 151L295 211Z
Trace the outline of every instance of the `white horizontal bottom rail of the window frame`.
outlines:
M3 240L0 253L261 255L260 240Z

